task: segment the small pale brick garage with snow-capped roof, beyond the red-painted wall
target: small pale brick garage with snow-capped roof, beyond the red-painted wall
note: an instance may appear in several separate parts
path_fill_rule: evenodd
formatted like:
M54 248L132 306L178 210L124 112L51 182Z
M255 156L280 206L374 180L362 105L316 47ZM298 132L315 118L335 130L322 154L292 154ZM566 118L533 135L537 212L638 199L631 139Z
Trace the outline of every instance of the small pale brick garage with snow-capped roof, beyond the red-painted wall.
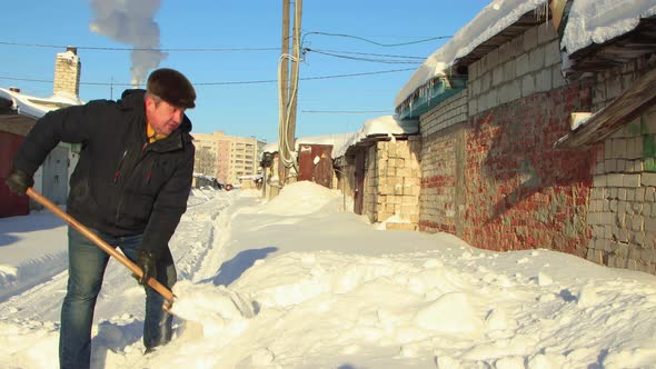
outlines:
M418 121L369 119L334 151L337 188L354 198L354 211L388 229L417 230L421 170Z

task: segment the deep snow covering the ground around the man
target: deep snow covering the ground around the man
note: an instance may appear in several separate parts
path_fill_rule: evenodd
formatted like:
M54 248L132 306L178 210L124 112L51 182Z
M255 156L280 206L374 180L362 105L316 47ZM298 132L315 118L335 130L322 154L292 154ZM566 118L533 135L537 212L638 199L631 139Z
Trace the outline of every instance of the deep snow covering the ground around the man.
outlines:
M143 292L112 261L93 368L656 368L655 276L380 230L344 202L309 182L195 192L173 340L142 355ZM61 221L0 219L0 367L58 367L66 279Z

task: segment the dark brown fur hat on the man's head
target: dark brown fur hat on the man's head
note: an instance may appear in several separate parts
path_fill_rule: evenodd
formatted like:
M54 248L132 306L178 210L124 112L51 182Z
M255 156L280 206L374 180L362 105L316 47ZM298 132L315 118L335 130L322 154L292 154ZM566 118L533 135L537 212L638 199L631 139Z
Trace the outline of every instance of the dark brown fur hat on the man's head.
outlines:
M148 77L146 90L166 102L180 107L196 107L196 90L191 82L177 70L160 68Z

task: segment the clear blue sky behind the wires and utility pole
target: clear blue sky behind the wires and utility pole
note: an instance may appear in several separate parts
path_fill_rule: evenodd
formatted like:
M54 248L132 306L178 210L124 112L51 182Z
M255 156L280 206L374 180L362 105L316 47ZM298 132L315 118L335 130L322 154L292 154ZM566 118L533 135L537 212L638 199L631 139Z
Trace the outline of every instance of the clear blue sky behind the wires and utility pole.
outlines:
M305 0L301 17L304 47L349 58L421 62L423 59L375 54L426 58L448 39L390 44L451 36L488 3L489 0ZM89 29L93 20L90 1L22 0L9 7L6 4L3 9L0 87L16 86L24 93L50 96L51 82L19 79L51 81L54 54L64 51L63 47L68 44L79 48L82 100L116 99L129 88L130 51L93 48L130 46ZM231 136L255 136L269 142L278 140L277 84L226 82L277 79L281 13L280 0L161 1L153 20L159 26L163 49L275 49L168 52L160 67L178 69L196 84L197 108L188 111L193 131L222 130ZM366 119L392 113L397 92L418 66L306 53L300 66L296 136L352 132ZM314 79L397 69L411 70ZM109 84L89 84L112 81L116 83L113 90ZM339 113L342 111L369 112Z

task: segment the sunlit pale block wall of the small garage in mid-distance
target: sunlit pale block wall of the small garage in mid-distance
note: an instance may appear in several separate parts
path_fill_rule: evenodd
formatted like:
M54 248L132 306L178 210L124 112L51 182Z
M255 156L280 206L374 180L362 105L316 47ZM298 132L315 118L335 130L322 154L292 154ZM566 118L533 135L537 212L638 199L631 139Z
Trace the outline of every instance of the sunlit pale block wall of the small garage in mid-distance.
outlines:
M367 150L364 213L371 221L388 222L388 229L416 230L419 222L421 172L419 136L408 140L378 141Z

